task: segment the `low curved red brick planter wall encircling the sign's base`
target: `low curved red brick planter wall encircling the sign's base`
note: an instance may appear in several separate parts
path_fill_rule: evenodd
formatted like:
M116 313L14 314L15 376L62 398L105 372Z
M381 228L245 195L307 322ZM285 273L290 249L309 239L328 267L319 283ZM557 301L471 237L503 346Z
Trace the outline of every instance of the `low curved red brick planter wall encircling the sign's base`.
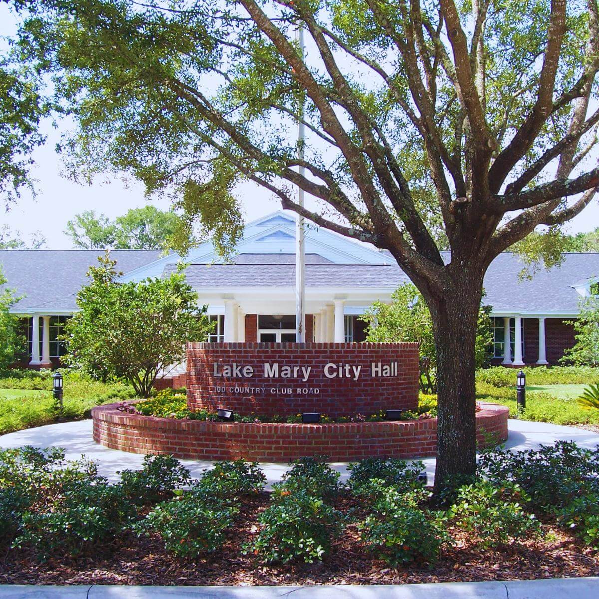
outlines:
M224 423L138 416L120 412L118 405L92 410L93 438L112 449L134 453L261 462L326 455L331 461L346 462L370 456L424 457L437 449L436 419L322 425ZM479 443L483 431L505 440L507 407L481 405L476 415Z

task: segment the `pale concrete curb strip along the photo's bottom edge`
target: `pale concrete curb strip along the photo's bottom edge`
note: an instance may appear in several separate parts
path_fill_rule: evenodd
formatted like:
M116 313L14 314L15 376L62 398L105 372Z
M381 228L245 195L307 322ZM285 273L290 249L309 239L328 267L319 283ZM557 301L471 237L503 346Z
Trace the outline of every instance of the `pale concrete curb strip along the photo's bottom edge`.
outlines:
M597 599L599 578L322 586L0 585L0 599Z

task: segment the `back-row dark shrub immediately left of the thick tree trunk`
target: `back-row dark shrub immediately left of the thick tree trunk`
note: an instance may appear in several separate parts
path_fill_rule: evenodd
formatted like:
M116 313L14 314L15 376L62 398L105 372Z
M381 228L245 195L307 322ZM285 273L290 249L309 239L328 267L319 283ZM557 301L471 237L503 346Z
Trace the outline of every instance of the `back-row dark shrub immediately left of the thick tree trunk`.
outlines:
M370 495L371 481L377 485L393 486L398 491L422 488L425 483L418 475L425 469L423 462L406 462L403 459L367 458L349 464L349 487L355 495Z

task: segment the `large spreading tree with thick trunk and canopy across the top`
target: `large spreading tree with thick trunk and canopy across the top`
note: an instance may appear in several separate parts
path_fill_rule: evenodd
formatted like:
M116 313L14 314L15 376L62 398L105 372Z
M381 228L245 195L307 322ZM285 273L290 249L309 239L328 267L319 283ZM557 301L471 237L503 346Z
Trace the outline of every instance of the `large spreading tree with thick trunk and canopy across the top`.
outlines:
M220 250L234 243L245 179L392 253L432 317L437 489L472 473L485 271L537 226L554 242L599 186L597 1L17 5L13 59L53 78L77 123L62 144L72 173L179 193L181 247L197 223Z

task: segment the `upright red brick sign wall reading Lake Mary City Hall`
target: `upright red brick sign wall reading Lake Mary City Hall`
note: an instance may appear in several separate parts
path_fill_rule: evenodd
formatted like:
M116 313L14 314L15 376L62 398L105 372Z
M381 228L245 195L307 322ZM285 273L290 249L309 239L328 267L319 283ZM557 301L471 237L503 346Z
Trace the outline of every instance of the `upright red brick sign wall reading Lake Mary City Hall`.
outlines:
M218 376L233 364L235 376ZM285 366L299 367L298 377L265 376L265 364L276 364L279 374ZM326 376L327 364L328 374L336 376ZM373 364L380 376L373 376ZM382 369L389 366L385 376ZM311 368L307 381L302 367ZM243 368L251 376L243 376ZM418 405L418 374L416 343L188 343L187 405L244 415L320 412L333 418L410 410Z

